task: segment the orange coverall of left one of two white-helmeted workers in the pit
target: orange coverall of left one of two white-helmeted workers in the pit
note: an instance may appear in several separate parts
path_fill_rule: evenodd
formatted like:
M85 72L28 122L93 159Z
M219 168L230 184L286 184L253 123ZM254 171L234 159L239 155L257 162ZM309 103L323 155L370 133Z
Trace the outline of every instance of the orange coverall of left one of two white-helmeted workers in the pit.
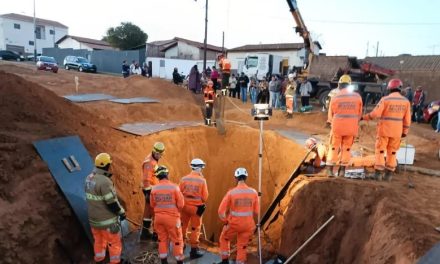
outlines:
M197 248L202 226L202 217L197 214L197 209L208 200L208 186L200 172L192 171L180 180L179 188L185 199L181 214L183 233L186 236L186 230L191 222L190 244L191 248Z

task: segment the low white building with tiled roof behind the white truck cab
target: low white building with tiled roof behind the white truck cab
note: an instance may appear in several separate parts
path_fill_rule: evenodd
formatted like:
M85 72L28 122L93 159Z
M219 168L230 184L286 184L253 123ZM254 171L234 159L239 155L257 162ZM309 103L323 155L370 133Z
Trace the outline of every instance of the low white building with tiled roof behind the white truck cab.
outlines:
M245 45L228 49L227 57L231 61L232 70L242 72L245 58L255 53L268 53L281 56L283 58L282 72L287 73L292 67L303 66L305 48L303 43L279 43Z

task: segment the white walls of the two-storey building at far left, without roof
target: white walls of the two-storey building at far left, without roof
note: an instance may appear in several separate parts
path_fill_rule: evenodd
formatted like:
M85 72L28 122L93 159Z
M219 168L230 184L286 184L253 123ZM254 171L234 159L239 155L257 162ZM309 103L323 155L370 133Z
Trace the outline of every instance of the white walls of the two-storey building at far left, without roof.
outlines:
M15 29L14 24L20 24L20 29ZM48 25L44 26L45 32L42 39L37 39L37 52L42 53L43 48L52 48L59 39L68 34L67 28L59 28ZM6 45L22 46L26 53L33 53L34 46L29 45L29 41L34 41L34 25L30 22L19 20L12 20L9 18L0 18L0 27L2 28L2 35L0 35L0 45L2 49ZM50 30L55 30L55 35L50 35ZM44 38L44 39L43 39ZM2 43L4 42L4 43Z

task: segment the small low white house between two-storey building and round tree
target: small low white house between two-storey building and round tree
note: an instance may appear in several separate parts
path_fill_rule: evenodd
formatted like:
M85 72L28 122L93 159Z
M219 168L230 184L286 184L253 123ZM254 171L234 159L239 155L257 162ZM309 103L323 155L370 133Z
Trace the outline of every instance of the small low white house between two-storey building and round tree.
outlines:
M56 44L60 49L116 50L106 41L70 35L65 35Z

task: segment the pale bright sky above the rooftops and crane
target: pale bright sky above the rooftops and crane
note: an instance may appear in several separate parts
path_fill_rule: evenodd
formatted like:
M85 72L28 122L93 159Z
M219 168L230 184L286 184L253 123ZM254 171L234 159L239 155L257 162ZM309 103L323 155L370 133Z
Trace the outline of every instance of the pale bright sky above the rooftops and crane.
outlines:
M36 16L69 27L69 34L101 39L132 22L148 41L182 37L203 42L206 0L35 0ZM284 0L209 0L208 43L225 47L302 42ZM314 40L327 55L360 58L440 55L438 0L297 0ZM33 0L2 0L0 14L33 15ZM379 43L379 45L377 45ZM377 46L379 46L377 48ZM368 53L367 53L368 52Z

